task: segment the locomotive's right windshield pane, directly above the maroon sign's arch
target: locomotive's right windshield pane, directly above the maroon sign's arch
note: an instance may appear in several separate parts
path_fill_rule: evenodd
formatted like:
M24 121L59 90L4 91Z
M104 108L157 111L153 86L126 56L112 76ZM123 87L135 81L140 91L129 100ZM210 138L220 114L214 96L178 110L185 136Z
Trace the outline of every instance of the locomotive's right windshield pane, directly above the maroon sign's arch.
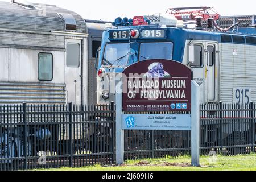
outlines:
M142 43L139 53L139 61L147 59L172 59L173 43Z

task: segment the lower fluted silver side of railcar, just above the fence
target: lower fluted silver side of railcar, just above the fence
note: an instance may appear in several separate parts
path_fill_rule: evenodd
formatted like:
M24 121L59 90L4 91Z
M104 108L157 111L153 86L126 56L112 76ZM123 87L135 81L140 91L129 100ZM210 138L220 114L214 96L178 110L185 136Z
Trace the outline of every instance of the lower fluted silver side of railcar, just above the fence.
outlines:
M65 104L65 84L0 83L0 104Z

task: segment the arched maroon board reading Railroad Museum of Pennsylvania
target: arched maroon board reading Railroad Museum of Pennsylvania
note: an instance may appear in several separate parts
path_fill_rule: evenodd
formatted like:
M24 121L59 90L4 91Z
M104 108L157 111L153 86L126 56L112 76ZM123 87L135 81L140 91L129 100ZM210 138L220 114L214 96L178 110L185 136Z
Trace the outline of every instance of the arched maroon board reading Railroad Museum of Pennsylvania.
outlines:
M122 80L123 111L191 111L192 72L177 61L141 61Z

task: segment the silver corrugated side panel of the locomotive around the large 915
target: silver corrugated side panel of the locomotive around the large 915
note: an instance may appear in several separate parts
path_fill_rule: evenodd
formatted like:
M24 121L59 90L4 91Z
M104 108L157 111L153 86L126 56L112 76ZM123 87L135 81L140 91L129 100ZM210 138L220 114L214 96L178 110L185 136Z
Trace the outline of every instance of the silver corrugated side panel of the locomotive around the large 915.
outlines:
M238 55L233 55L237 49ZM221 44L220 100L233 102L234 88L250 88L251 99L256 101L256 46Z

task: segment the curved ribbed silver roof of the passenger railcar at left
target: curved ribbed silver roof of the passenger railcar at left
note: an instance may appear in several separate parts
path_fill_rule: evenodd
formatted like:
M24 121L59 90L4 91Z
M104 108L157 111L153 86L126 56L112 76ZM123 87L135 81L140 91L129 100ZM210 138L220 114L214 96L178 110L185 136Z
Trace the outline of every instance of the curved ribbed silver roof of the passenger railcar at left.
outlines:
M0 2L0 28L43 32L65 31L63 19L59 15L65 13L75 18L77 32L88 33L84 19L79 14L60 7L34 5L40 10L26 9L15 3Z

